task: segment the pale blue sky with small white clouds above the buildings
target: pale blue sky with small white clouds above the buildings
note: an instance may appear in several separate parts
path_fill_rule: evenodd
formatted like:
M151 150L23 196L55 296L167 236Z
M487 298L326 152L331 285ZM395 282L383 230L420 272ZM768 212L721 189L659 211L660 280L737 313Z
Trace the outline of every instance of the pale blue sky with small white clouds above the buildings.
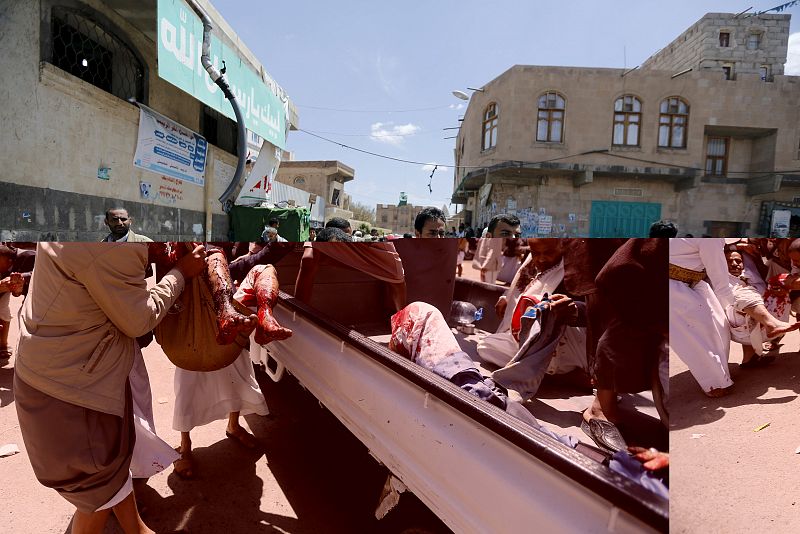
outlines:
M453 149L469 93L514 65L631 68L705 13L764 11L788 0L211 0L297 107L296 160L339 160L345 185L374 208L400 192L447 206ZM800 5L786 74L800 75ZM433 165L439 165L430 178ZM430 190L429 190L430 182Z

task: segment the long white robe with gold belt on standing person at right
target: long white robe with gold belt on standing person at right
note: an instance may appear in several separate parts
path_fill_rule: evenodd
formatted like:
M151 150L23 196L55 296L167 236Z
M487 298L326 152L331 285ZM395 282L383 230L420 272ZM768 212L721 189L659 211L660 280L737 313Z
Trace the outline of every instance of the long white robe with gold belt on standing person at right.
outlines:
M670 351L689 366L697 383L708 392L733 385L728 370L731 334L724 308L733 305L724 254L725 241L715 238L673 238L669 261L674 265L702 271L705 280L694 287L669 281ZM714 290L711 287L714 287Z

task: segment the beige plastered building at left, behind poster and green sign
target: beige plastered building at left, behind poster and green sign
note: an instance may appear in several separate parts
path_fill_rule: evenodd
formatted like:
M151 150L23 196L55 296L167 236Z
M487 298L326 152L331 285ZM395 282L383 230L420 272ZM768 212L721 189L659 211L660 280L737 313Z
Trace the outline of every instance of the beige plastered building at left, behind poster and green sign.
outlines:
M209 1L199 3L213 20L220 46L241 59L242 66L237 62L235 67L281 98L288 122L296 124L297 114L283 90ZM4 2L1 239L97 240L108 232L105 210L118 205L134 218L136 232L154 239L226 238L229 219L217 198L236 166L236 126L211 104L162 79L159 69L165 61L159 50L165 36L171 39L168 45L176 45L175 39L186 34L176 26L165 28L157 5L132 0ZM200 54L192 47L199 42L193 39L173 52L194 69L200 84L210 83L198 75L205 73L200 73ZM232 75L231 61L227 66ZM130 98L205 137L202 183L133 165L140 110ZM245 114L259 104L248 95L241 103ZM248 141L257 144L259 139L251 135Z

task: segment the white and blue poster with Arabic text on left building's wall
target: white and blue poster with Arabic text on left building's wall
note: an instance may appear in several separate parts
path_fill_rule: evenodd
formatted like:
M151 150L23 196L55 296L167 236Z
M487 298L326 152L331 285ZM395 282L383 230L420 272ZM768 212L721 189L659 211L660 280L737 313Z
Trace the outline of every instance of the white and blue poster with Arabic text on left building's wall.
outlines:
M135 167L203 186L207 151L202 135L139 104Z

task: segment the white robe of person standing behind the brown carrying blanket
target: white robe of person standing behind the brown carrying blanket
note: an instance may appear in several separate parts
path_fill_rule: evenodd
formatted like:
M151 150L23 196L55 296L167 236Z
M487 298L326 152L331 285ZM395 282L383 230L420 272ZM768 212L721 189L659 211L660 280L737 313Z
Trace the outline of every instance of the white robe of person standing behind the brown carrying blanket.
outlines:
M243 296L242 282L235 299ZM226 419L231 412L239 415L267 415L267 401L256 381L250 352L242 350L227 367L200 373L175 369L175 410L172 428L189 432L194 427Z

